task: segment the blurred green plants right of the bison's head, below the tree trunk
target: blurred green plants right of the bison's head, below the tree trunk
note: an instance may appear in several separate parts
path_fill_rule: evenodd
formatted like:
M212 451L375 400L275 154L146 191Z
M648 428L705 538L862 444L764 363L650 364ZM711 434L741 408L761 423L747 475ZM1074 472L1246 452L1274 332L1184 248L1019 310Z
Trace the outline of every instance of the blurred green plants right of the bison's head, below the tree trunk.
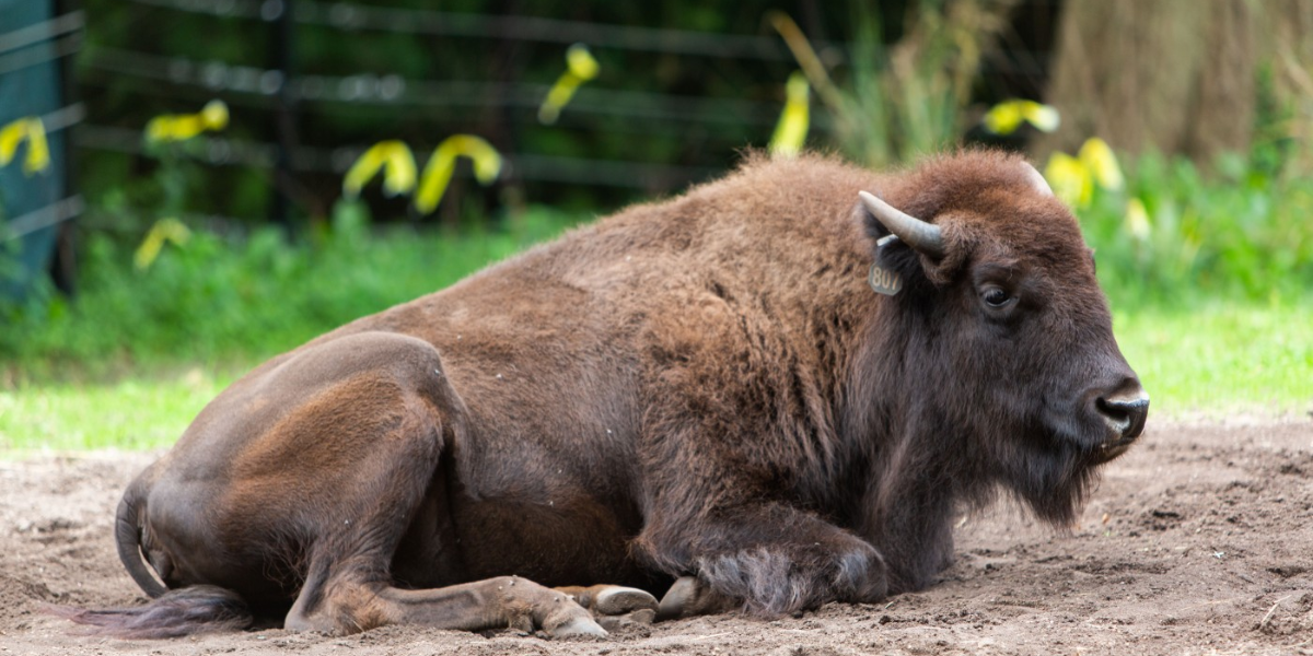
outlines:
M1264 161L1224 157L1205 178L1190 160L1145 155L1123 190L1098 189L1078 214L1108 297L1176 310L1313 300L1313 181ZM1128 198L1144 203L1148 231L1128 224Z

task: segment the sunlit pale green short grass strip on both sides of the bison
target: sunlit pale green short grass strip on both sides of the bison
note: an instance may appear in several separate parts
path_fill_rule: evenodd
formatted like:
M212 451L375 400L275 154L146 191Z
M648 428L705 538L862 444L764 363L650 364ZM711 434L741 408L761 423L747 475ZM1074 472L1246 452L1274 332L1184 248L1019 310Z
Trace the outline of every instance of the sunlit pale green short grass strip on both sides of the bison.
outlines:
M1155 419L1313 409L1313 304L1119 312L1117 338ZM0 388L0 453L158 449L240 371Z

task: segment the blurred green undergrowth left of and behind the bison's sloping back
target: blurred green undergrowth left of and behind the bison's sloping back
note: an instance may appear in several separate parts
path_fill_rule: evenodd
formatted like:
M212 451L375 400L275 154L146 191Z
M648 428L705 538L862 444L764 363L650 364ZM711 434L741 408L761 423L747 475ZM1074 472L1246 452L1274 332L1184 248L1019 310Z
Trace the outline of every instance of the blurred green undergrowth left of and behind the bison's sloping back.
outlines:
M197 230L144 270L131 248L93 234L74 300L46 289L22 304L0 302L0 387L264 358L445 287L580 218L530 209L500 227L372 230L364 206L343 202L303 243L274 228L240 237Z

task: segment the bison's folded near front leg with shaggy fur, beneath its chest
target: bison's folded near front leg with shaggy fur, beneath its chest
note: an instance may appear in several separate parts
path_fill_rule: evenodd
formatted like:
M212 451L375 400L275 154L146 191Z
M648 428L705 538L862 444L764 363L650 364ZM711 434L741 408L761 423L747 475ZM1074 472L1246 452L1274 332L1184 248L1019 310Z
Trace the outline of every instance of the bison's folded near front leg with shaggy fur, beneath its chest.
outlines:
M650 522L638 546L658 568L684 575L662 600L662 619L734 607L780 615L830 601L874 602L888 592L885 562L873 546L777 504Z

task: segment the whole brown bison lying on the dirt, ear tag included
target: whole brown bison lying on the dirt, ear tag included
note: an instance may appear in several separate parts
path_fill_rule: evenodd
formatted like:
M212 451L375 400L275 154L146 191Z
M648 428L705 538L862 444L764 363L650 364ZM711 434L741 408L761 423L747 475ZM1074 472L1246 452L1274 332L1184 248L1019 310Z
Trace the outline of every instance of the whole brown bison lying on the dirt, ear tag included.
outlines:
M754 155L235 382L118 506L154 600L68 614L604 635L874 602L999 493L1073 522L1148 405L1023 159Z

